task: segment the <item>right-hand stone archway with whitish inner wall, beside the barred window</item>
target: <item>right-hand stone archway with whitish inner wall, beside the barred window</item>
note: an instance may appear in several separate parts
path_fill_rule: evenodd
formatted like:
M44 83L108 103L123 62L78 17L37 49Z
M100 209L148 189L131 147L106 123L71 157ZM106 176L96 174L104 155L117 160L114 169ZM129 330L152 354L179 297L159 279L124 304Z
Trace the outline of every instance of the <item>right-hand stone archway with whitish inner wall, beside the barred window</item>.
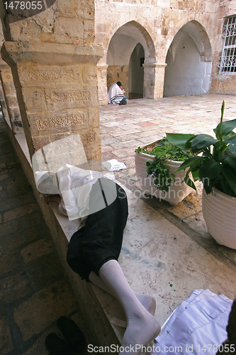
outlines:
M210 89L211 45L198 21L189 21L174 36L167 52L164 97L205 94Z

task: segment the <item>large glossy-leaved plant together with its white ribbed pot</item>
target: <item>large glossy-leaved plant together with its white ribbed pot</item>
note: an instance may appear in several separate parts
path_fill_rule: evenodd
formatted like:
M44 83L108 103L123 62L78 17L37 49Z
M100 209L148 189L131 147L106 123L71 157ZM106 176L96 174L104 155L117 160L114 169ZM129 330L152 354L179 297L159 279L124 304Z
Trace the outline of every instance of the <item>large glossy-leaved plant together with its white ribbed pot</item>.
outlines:
M189 135L167 133L169 142L181 149L191 149L193 157L187 158L177 171L188 169L184 181L196 189L193 180L203 182L203 218L208 230L218 242L236 249L236 119L221 118L213 130L215 138L208 134Z

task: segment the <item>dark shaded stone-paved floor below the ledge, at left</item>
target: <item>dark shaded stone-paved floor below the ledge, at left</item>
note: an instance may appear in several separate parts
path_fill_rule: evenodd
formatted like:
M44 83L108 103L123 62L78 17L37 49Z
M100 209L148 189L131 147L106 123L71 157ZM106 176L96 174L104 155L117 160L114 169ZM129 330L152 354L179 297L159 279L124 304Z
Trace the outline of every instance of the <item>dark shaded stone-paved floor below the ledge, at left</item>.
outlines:
M0 113L0 354L48 355L45 337L50 332L63 337L55 326L62 315L76 320L86 334Z

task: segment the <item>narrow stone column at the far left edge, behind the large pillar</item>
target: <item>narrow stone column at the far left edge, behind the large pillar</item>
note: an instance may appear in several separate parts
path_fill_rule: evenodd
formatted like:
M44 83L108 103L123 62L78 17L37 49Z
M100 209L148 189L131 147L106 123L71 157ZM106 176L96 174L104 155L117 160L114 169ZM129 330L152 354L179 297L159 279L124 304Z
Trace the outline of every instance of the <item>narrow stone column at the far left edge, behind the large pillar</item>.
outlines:
M4 91L6 109L8 111L11 129L14 134L23 132L21 114L16 97L16 89L13 83L11 67L0 59L0 81Z

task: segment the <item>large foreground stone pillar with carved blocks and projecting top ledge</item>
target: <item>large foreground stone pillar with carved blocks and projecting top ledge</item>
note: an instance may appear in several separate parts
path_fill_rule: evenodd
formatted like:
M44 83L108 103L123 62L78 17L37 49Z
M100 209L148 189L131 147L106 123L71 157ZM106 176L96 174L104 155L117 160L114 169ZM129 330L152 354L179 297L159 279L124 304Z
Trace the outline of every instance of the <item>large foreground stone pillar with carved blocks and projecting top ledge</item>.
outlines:
M5 42L30 156L80 134L88 160L101 159L96 63L100 46Z

